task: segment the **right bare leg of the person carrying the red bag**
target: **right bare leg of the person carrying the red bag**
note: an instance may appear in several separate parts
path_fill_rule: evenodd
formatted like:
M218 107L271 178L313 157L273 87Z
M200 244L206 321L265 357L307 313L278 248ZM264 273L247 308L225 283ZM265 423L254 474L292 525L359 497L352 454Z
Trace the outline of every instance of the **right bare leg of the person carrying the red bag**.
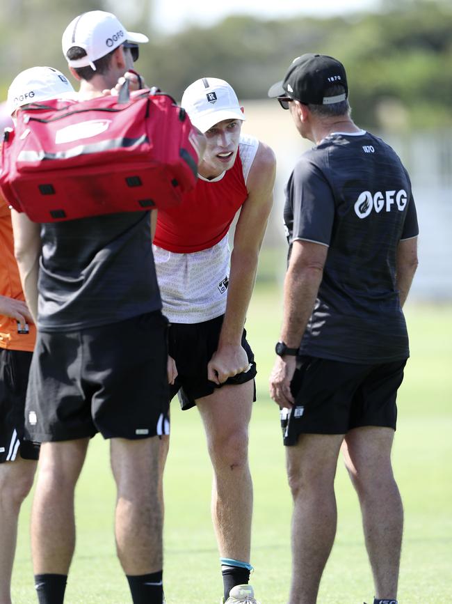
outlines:
M159 437L111 440L116 548L127 575L155 573L163 566L159 446Z

